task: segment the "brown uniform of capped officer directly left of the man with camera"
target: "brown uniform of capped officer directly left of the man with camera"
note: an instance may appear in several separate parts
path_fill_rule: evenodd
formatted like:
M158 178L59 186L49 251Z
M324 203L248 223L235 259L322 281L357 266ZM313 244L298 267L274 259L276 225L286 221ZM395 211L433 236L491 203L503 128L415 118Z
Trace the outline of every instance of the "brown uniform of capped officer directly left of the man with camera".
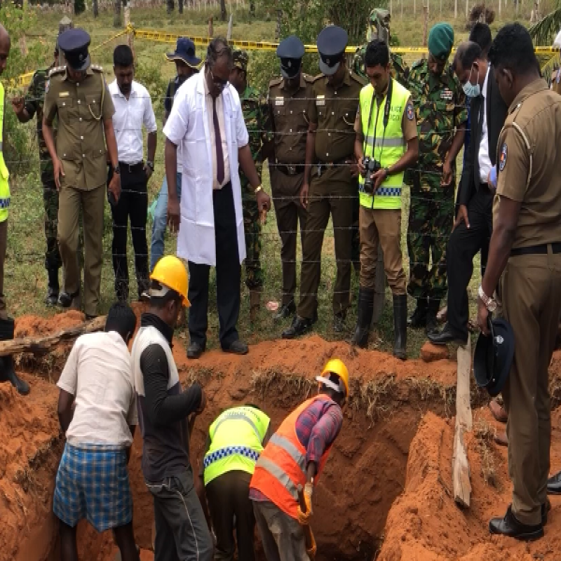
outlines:
M308 217L302 250L302 272L298 316L313 319L318 301L321 277L321 248L325 228L331 215L337 260L337 279L333 292L333 313L346 313L351 288L351 241L353 205L358 187L351 177L354 161L355 133L353 126L360 90L365 80L346 74L336 88L327 76L318 76L313 83L309 118L317 124L315 133L316 165L311 169Z

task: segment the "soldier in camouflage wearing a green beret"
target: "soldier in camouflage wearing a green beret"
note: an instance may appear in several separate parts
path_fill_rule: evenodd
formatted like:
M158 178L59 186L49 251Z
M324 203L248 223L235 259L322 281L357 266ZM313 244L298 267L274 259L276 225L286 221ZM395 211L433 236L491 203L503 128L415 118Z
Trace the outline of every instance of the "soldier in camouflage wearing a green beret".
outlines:
M464 91L448 64L453 44L452 26L435 25L428 36L428 60L416 62L409 76L419 128L407 231L407 292L417 299L417 307L409 323L426 327L427 333L437 328L436 314L447 290L446 245L454 224L456 157L468 119Z

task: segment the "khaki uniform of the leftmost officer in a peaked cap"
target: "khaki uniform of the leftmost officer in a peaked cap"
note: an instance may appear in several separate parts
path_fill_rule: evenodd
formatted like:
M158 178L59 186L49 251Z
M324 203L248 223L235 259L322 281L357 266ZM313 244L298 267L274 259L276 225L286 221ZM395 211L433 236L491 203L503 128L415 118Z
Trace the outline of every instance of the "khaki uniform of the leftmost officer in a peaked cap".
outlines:
M91 66L83 81L69 80L66 67L50 72L44 115L48 125L58 116L56 150L65 175L60 178L58 243L65 267L65 292L80 288L78 221L83 212L84 311L97 313L102 270L103 210L107 182L104 126L114 114L102 69Z

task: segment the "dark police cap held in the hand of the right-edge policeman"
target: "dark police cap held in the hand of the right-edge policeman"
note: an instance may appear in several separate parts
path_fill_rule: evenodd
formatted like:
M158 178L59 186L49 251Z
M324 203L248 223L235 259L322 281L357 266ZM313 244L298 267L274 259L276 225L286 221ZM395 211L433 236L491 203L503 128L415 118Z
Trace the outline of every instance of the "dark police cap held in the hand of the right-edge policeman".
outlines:
M503 319L489 320L490 335L480 334L473 354L473 375L489 396L501 393L514 358L514 331Z

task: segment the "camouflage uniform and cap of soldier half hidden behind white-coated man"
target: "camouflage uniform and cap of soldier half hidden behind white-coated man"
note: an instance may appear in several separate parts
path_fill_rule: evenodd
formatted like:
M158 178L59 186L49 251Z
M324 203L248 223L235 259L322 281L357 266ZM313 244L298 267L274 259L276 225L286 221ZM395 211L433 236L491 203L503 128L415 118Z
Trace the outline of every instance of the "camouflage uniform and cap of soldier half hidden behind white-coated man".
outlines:
M245 60L244 60L245 59ZM234 65L240 66L244 71L248 64L247 53L235 53ZM243 119L245 126L248 128L249 145L251 155L257 168L257 175L261 180L263 168L262 147L268 142L269 135L269 111L267 109L266 100L262 98L256 90L248 86L245 92L240 95L241 107L243 110ZM261 268L261 217L257 208L257 200L255 192L240 170L241 196L243 207L243 229L245 234L245 285L250 290L262 288L263 286L263 269Z

